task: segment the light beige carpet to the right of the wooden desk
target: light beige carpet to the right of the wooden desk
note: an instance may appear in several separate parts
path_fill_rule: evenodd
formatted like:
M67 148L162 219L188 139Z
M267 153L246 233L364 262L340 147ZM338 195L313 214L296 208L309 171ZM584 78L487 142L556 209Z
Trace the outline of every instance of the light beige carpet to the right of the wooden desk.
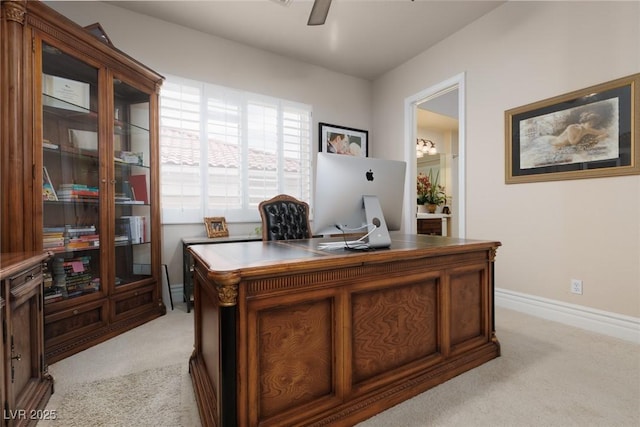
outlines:
M640 346L501 307L501 357L358 427L637 427Z

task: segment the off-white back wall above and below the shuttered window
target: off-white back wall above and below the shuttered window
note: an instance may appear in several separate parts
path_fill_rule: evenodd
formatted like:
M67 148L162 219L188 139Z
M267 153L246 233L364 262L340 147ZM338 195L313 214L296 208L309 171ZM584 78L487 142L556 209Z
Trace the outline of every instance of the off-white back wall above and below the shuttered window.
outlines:
M190 30L102 2L47 2L72 21L99 22L113 44L160 74L256 92L313 106L318 122L371 130L371 83ZM370 132L369 137L372 137ZM314 136L317 144L318 137ZM232 235L258 224L226 218ZM183 237L206 236L204 223L163 226L162 261L172 283L182 283Z

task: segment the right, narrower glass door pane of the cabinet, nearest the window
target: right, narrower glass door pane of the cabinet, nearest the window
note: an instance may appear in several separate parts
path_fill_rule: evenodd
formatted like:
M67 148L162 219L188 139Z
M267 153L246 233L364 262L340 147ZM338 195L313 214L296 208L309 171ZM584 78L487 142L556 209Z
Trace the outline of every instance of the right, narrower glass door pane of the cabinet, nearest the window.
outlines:
M113 79L115 286L151 277L150 96Z

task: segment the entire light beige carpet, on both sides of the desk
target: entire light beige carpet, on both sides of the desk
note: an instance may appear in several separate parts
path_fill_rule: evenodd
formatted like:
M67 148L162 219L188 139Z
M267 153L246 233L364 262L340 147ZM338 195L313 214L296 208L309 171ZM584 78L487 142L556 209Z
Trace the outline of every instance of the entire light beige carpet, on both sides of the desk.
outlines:
M500 307L496 330L501 357L358 427L640 425L638 344ZM200 426L188 373L192 350L193 313L178 305L166 316L64 359L50 367L56 392L47 409L56 410L58 420L38 427ZM98 424L105 419L99 414L104 405L93 402L93 391L102 383L108 384L105 391L113 390L105 399L114 399L111 407L127 408L116 412L129 412L128 420L111 418L113 410L107 410L108 421Z

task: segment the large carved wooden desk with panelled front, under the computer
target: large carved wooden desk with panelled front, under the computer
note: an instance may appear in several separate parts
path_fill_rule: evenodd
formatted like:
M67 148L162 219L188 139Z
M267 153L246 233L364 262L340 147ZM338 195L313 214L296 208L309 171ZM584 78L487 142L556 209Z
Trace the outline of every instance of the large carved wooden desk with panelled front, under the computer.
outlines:
M189 248L203 426L352 425L499 356L499 242L327 240Z

